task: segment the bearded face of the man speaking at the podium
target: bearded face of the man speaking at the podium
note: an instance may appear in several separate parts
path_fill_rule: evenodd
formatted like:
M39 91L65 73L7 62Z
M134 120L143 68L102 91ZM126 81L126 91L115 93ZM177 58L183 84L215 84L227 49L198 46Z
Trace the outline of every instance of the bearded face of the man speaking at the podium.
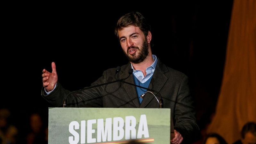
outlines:
M139 27L129 26L118 31L124 54L132 63L140 63L148 56L148 40Z

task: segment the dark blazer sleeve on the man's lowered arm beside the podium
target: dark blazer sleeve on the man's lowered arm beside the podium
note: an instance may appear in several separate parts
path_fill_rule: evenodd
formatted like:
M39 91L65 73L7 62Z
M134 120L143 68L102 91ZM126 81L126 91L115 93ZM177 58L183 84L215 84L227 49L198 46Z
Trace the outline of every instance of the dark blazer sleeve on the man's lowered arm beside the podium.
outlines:
M182 135L182 144L194 142L199 135L194 101L188 84L188 76L184 76L179 87L174 110L174 129Z

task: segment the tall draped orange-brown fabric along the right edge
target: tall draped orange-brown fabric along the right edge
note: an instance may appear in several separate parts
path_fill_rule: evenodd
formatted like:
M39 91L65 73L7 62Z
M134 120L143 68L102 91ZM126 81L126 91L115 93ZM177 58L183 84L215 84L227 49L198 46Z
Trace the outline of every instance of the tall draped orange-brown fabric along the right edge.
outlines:
M222 84L207 133L217 132L232 144L248 121L256 122L256 0L234 0Z

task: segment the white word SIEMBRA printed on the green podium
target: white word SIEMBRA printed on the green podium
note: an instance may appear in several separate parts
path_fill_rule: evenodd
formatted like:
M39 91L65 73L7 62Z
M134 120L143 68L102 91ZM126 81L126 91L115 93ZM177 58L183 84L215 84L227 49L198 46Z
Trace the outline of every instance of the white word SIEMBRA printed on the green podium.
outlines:
M140 116L140 123L137 130L137 137L136 137L136 118L134 116L126 116L125 117L125 130L124 130L124 119L122 117L114 117L113 118L113 130L112 130L112 118L106 118L105 121L105 129L104 129L104 121L103 119L92 119L87 120L87 143L95 143L96 138L92 138L92 134L95 133L95 129L92 129L92 124L97 123L97 142L105 142L112 141L112 134L113 134L113 141L122 140L125 134L125 140L130 139L140 139L142 135L144 138L149 137L148 133L148 123L146 115ZM81 144L85 143L85 129L86 129L86 122L85 120L81 121ZM68 141L70 144L77 144L79 142L79 133L75 130L79 129L79 123L77 121L72 121L69 124L69 132L73 135L68 137ZM119 135L118 135L119 133ZM131 136L130 136L131 133ZM102 139L101 139L102 138Z

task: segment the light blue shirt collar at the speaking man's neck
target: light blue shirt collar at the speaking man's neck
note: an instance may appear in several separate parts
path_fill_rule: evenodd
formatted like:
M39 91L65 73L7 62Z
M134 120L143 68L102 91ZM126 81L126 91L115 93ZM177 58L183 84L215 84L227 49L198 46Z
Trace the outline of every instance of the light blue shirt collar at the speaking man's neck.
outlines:
M154 71L156 69L156 63L157 63L157 58L155 55L152 55L153 59L155 60L151 66L149 66L148 68L146 68L146 73L147 75L144 77L143 73L141 70L133 70L133 75L135 77L137 77L137 79L141 82L141 83L145 83L151 76L153 76ZM131 64L132 65L132 64ZM133 69L133 66L132 66Z

